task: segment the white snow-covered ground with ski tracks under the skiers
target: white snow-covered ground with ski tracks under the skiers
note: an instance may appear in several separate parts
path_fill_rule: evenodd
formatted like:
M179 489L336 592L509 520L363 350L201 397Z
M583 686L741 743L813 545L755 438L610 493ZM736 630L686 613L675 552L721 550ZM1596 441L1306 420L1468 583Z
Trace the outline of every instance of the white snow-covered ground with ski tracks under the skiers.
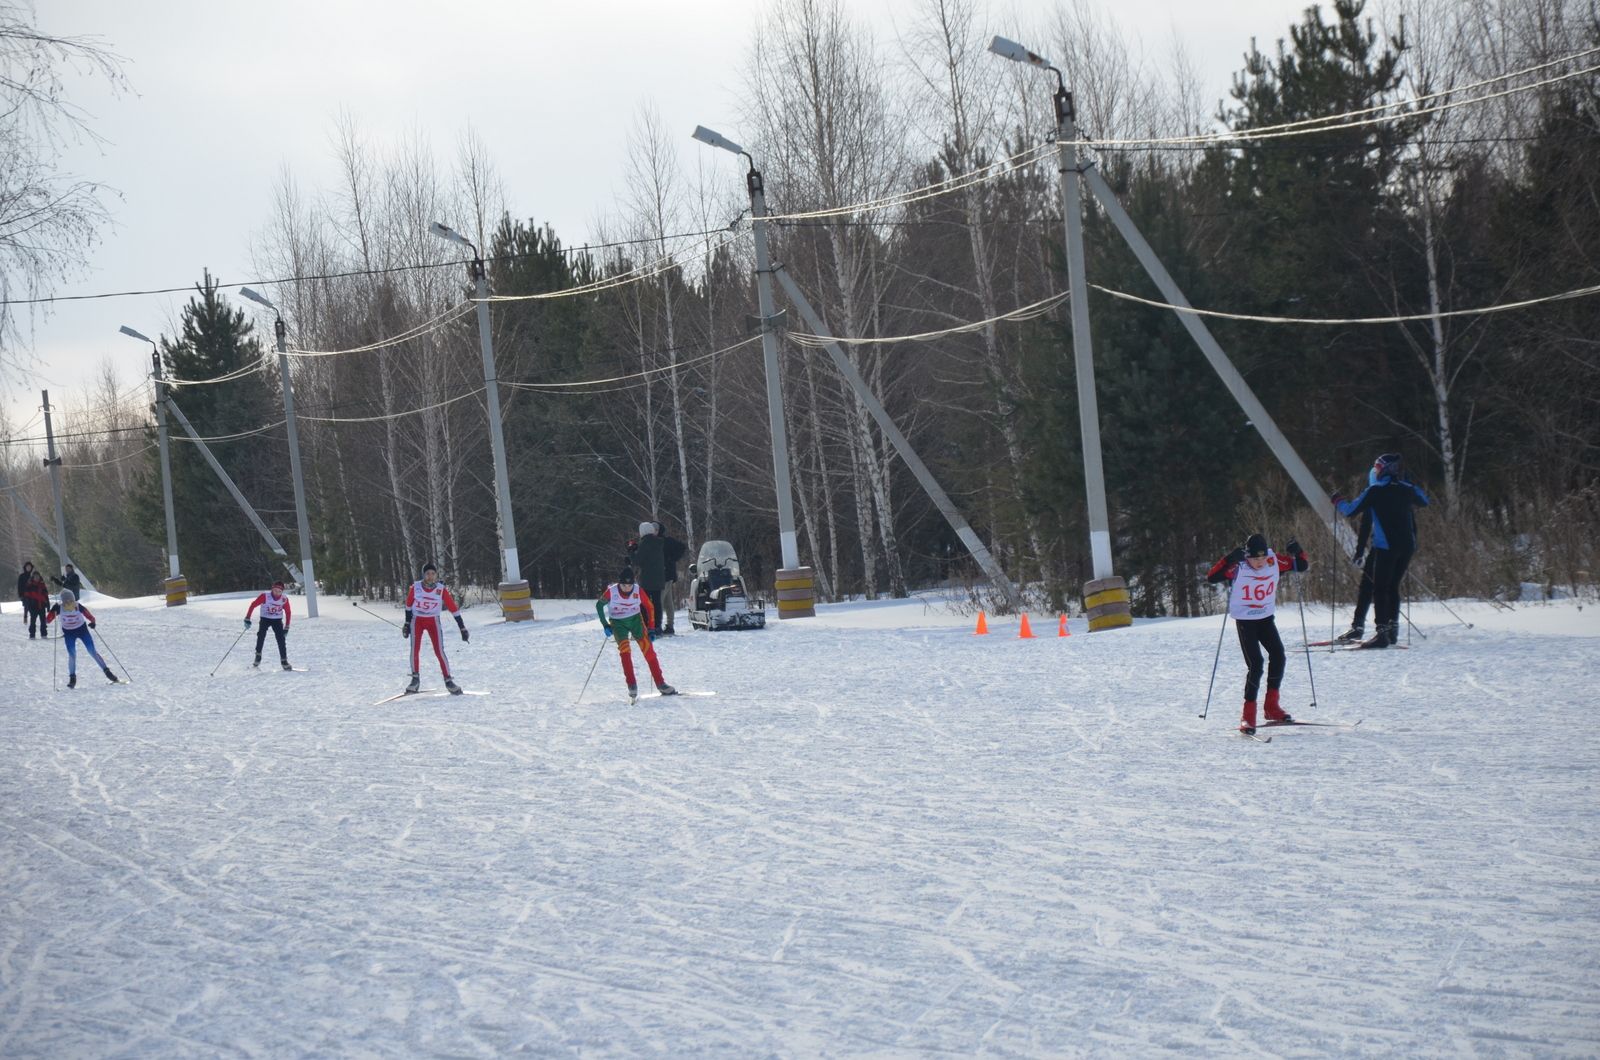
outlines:
M680 618L717 695L629 706L587 604L478 607L490 695L374 706L342 599L208 677L246 600L91 594L133 684L70 692L6 608L0 1055L1600 1052L1600 607L1419 605L1315 708L1291 655L1362 725L1264 745L1219 618Z

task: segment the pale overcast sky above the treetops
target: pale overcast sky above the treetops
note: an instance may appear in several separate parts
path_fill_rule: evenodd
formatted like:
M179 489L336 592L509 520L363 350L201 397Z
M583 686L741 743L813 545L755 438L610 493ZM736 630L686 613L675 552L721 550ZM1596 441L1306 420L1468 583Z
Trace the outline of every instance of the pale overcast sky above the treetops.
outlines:
M1088 0L1139 37L1150 56L1173 37L1205 82L1227 93L1250 38L1286 34L1309 0ZM1000 0L990 32L1050 0ZM894 43L912 0L854 0ZM682 128L738 136L739 66L763 0L40 0L40 29L94 34L126 58L131 91L72 80L74 101L106 144L69 154L69 168L104 181L114 224L88 271L58 295L184 287L202 269L224 282L262 279L251 243L274 183L288 170L315 194L336 181L333 122L349 112L378 146L411 133L448 160L470 125L486 143L514 216L549 221L566 243L621 187L622 154L640 104ZM1026 43L1026 42L1024 42ZM997 59L998 61L998 59ZM1048 120L1048 117L1046 117ZM730 168L730 181L738 175ZM59 303L34 330L35 363L5 395L13 428L51 400L88 387L110 359L133 384L149 351L117 333L128 323L170 333L182 295ZM61 429L61 428L58 428ZM32 431L29 432L32 434Z

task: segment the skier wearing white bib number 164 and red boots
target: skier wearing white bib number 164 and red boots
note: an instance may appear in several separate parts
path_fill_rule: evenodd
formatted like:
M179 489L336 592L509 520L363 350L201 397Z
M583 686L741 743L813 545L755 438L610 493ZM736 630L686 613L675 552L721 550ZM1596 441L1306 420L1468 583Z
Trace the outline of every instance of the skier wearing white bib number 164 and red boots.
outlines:
M1262 706L1269 722L1294 721L1278 706L1278 685L1283 684L1283 639L1274 618L1278 596L1278 576L1285 570L1306 570L1306 549L1299 541L1283 546L1288 556L1278 556L1259 533L1251 533L1245 548L1237 548L1216 560L1206 581L1232 583L1227 594L1227 613L1238 629L1238 648L1245 653L1245 711L1238 730L1256 732L1256 692L1261 689L1261 650L1267 650L1267 698ZM1290 559L1293 557L1293 559Z

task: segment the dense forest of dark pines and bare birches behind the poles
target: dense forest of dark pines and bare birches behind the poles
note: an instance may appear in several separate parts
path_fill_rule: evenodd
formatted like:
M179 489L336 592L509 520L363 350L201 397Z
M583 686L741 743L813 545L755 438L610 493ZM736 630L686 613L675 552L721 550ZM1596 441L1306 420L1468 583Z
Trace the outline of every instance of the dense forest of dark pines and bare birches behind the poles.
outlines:
M986 51L998 29L1066 72L1086 157L1330 492L1405 453L1432 496L1421 584L1515 594L1589 584L1600 540L1600 48L1576 0L1309 8L1240 42L1203 99L1181 53L1146 56L1083 3L1032 27L979 0L923 0L894 40L843 0L771 0L739 130L765 176L774 258L842 336L891 339L1066 291L1053 78ZM1576 75L1574 75L1576 72ZM1546 85L1526 86L1533 82ZM1483 86L1477 86L1483 83ZM1493 96L1493 98L1490 98ZM1459 102L1459 106L1456 106ZM1386 104L1398 109L1374 110ZM1443 104L1443 106L1440 106ZM1374 114L1304 135L1149 143ZM483 368L461 248L488 266L523 576L534 596L610 581L643 519L776 567L776 503L742 170L643 107L624 194L589 245L510 210L470 133L376 149L338 128L342 179L285 178L256 248L288 322L318 580L384 591L437 562L499 580ZM962 181L982 175L986 179ZM942 184L941 184L942 183ZM912 195L939 186L942 194ZM894 200L888 208L832 211ZM1243 533L1331 554L1266 445L1107 218L1086 199L1096 383L1117 572L1139 615L1214 610L1206 565ZM821 213L819 213L821 211ZM802 216L816 215L816 216ZM270 317L206 275L160 339L174 397L291 557L294 511ZM579 288L584 293L562 296ZM1109 291L1115 291L1109 293ZM554 296L552 296L554 295ZM782 299L779 299L782 301ZM1066 304L846 351L1013 580L1064 607L1090 576ZM1285 323L1243 317L1344 320ZM1405 322L1355 320L1411 317ZM789 327L806 328L795 312ZM782 344L800 552L822 599L970 581L974 565L826 354ZM238 373L222 383L202 383ZM189 381L192 384L184 386ZM150 387L58 395L70 549L110 592L152 592L165 525ZM29 439L0 424L8 482L50 522ZM178 432L174 432L176 437ZM197 591L282 575L202 463L173 444L178 541ZM51 564L14 504L0 548ZM1354 568L1307 586L1346 597Z

